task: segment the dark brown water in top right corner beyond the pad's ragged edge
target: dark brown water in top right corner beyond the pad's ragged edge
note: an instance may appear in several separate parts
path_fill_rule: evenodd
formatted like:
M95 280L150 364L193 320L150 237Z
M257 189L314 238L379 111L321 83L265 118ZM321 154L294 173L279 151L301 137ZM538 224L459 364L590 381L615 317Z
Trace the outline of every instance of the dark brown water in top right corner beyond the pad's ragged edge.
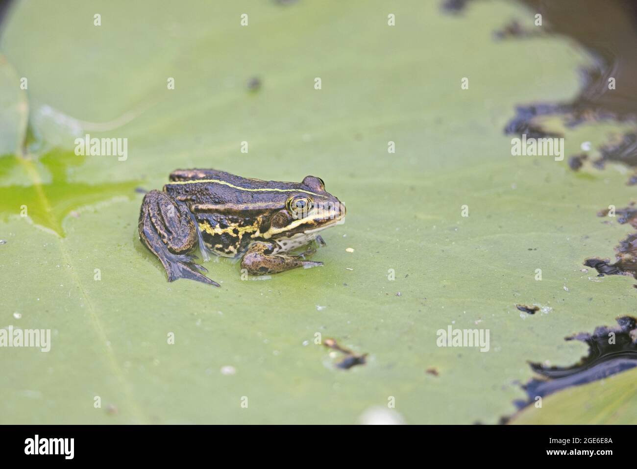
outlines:
M521 1L542 15L552 34L568 36L587 48L595 63L581 71L582 87L573 101L521 105L505 133L555 136L538 123L538 117L547 115L561 115L567 127L610 119L637 124L637 3ZM606 161L614 160L637 166L634 136L627 133L619 141L603 145L599 148L601 157L594 164L602 167ZM574 169L578 168L576 165Z

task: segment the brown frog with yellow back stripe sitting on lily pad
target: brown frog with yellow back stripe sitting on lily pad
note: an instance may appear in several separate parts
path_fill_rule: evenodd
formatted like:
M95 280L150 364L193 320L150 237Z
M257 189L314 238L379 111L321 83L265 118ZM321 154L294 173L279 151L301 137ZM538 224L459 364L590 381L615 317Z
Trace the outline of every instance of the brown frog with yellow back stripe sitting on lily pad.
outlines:
M322 266L308 257L325 245L319 232L344 222L347 209L321 178L300 183L244 178L218 170L175 170L162 191L147 192L140 241L161 261L169 282L208 278L201 260L241 259L241 273L270 275ZM292 254L305 249L300 254Z

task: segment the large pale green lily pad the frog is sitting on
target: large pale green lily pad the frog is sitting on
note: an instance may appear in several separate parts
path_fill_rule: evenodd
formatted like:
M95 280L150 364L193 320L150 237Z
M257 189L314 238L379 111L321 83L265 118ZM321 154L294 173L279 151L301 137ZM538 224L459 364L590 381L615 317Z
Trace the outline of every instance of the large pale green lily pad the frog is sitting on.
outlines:
M354 423L393 397L408 423L494 423L527 360L574 363L585 345L564 336L633 312L631 279L582 271L627 233L596 217L633 196L621 168L513 157L503 134L516 104L575 96L590 62L560 37L494 41L532 24L521 6L62 3L17 3L0 41L0 327L52 329L50 352L0 349L1 422ZM85 133L127 138L127 159L76 156ZM191 167L323 178L348 210L325 266L242 281L222 259L219 289L166 282L134 188ZM449 325L489 329L489 352L438 347ZM368 363L334 367L317 333Z

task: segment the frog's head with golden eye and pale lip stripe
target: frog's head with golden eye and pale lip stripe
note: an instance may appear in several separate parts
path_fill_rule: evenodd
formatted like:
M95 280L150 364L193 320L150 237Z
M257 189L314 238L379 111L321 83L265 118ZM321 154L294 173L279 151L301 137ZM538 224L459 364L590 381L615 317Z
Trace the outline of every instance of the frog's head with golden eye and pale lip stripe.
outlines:
M325 190L322 179L306 176L297 186L280 199L281 208L268 220L266 238L290 238L315 233L336 225L345 218L345 205Z

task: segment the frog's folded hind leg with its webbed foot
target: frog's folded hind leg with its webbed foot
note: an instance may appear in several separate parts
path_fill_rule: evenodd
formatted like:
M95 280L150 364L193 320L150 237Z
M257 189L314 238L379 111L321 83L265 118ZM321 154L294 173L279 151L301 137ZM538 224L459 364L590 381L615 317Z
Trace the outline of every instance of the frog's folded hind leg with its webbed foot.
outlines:
M168 274L168 281L190 278L220 286L201 271L195 256L187 254L197 244L197 229L188 208L176 203L168 194L150 191L141 203L140 240L157 256Z

